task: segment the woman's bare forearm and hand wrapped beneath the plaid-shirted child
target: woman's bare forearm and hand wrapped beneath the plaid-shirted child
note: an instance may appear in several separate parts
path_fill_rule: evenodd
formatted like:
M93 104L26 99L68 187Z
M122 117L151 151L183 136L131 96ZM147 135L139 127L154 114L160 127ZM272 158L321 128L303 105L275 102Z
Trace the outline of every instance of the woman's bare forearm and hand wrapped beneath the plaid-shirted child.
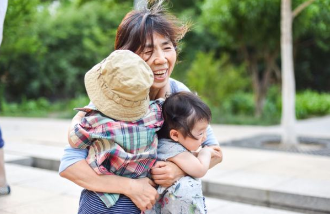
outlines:
M158 198L155 184L149 178L131 179L117 175L97 175L86 160L69 166L60 175L91 191L127 195L141 211L151 209Z

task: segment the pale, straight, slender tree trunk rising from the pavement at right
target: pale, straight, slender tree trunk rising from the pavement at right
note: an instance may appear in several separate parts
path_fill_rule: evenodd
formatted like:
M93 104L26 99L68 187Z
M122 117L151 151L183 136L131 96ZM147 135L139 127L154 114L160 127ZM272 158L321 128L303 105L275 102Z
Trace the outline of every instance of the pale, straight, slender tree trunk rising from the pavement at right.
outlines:
M291 0L281 1L282 143L297 145Z

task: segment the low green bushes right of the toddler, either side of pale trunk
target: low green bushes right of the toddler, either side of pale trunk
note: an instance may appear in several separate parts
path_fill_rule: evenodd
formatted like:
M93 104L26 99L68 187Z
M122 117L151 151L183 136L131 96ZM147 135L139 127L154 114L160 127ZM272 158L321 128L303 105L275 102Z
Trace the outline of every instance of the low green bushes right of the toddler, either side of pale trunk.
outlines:
M252 93L236 93L223 101L222 107L211 105L212 121L218 123L272 125L280 123L282 100L280 88L272 86L265 101L261 118L253 117L254 97ZM330 94L306 90L296 95L296 117L324 116L330 114Z

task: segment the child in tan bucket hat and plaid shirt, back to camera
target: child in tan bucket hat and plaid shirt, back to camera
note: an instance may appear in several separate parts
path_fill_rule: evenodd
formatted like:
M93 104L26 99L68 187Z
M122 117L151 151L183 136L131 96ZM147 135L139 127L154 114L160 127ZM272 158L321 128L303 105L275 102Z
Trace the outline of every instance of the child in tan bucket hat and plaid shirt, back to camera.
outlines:
M92 104L77 109L87 114L74 126L69 141L74 148L88 148L86 160L97 174L129 178L149 174L156 160L156 131L164 122L163 100L149 100L153 81L147 63L128 50L112 52L86 73ZM91 194L107 208L119 198L119 194L83 190L78 213L92 213L88 210L92 206L84 204L91 201Z

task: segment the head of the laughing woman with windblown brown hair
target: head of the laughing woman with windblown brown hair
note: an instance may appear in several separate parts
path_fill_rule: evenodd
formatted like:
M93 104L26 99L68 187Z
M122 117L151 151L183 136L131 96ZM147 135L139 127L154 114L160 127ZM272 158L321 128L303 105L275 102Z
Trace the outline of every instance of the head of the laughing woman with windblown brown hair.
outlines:
M178 41L189 27L166 13L161 1L149 11L133 10L118 27L114 48L127 49L143 58L154 72L150 98L166 87L176 63Z

